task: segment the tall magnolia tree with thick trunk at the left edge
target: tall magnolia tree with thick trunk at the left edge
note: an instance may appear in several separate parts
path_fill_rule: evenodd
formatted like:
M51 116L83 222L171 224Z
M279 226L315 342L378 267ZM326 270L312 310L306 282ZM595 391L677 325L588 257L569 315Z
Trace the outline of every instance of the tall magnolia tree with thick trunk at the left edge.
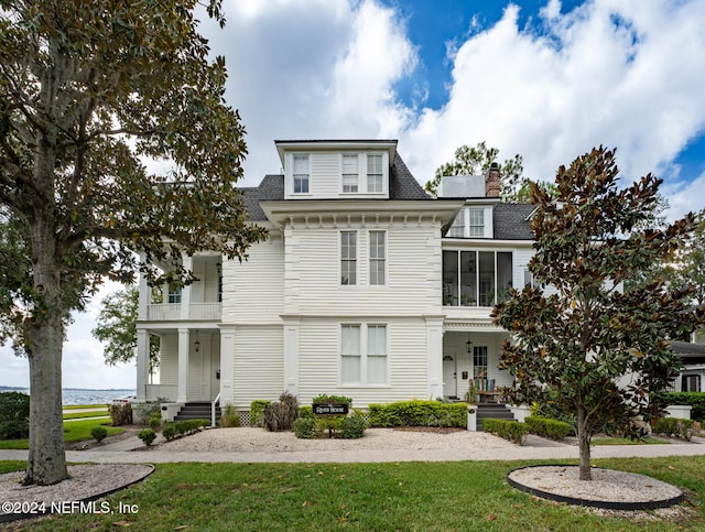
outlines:
M67 477L62 344L101 279L189 282L182 253L242 258L265 236L196 4L0 0L0 339L30 362L26 484Z

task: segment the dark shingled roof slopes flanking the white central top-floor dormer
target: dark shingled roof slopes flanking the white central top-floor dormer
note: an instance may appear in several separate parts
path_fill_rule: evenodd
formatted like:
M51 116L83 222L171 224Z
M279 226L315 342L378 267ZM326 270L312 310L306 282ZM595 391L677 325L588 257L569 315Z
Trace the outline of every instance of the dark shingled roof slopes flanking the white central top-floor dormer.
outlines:
M245 206L249 213L249 219L263 221L267 216L260 207L260 203L284 200L284 176L281 174L265 175L259 186L243 187L240 191L245 195ZM394 153L394 161L390 172L389 199L433 200L411 174L399 153Z

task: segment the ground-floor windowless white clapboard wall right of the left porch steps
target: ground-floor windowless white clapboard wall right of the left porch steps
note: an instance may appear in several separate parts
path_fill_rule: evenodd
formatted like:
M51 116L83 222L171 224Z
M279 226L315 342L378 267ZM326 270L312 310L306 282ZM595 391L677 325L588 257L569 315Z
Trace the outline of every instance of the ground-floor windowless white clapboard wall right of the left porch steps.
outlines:
M284 391L283 349L282 326L237 327L231 361L237 409L249 410L254 399L279 399Z

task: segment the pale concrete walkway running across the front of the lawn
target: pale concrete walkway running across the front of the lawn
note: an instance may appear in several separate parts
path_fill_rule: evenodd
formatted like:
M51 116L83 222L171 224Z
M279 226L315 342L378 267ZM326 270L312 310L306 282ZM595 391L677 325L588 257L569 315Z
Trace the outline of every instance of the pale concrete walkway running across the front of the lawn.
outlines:
M161 437L161 436L160 436ZM159 442L159 441L158 441ZM593 447L593 458L655 458L663 456L703 456L705 439L669 445L599 445ZM0 450L0 460L25 460L28 450ZM144 447L128 438L86 450L67 450L72 463L96 464L163 464L198 463L381 463L381 462L462 462L462 460L549 460L577 459L575 445L530 436L525 446L501 448L400 449L400 450L316 450L316 452L196 452L162 450Z

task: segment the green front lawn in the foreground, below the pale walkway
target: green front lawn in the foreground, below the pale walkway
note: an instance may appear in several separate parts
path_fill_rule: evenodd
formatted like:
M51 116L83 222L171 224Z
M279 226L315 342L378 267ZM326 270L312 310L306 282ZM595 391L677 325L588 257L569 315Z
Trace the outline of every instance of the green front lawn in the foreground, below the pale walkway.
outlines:
M557 463L557 462L554 462ZM705 457L595 460L691 493L675 517L640 520L535 499L507 474L535 462L397 464L159 464L145 481L107 498L113 514L32 521L28 530L703 530ZM0 470L6 468L0 463ZM22 463L12 467L23 468ZM122 504L120 507L119 504ZM134 513L120 512L130 506Z

